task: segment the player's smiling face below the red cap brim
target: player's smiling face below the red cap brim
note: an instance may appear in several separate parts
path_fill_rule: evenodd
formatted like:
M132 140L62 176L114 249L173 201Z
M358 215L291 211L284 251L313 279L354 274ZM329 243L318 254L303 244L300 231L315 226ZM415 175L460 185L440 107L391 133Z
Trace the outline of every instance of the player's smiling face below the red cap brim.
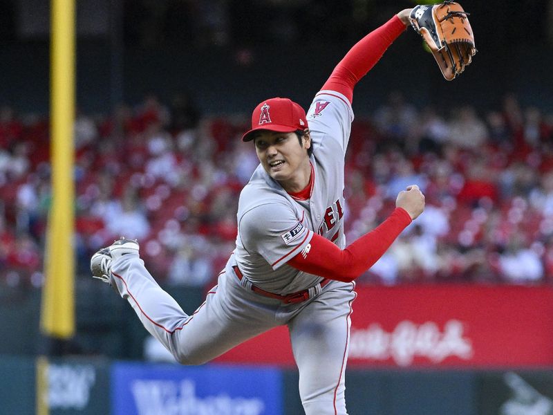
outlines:
M265 172L288 192L299 192L309 183L311 167L307 149L310 137L300 145L296 133L262 131L254 138L255 150ZM298 188L299 187L299 188Z

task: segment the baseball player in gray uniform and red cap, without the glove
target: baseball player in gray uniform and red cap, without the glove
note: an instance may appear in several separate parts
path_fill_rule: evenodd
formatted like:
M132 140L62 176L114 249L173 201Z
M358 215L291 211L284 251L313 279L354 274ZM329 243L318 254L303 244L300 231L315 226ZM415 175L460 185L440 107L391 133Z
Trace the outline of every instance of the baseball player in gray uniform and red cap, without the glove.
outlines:
M307 114L286 98L254 109L243 140L253 143L261 163L238 202L236 249L194 314L158 286L138 242L120 239L92 257L93 276L127 299L178 362L200 365L285 324L306 414L346 414L353 280L424 210L418 187L407 187L386 221L346 248L344 155L353 88L404 31L409 11L353 46Z

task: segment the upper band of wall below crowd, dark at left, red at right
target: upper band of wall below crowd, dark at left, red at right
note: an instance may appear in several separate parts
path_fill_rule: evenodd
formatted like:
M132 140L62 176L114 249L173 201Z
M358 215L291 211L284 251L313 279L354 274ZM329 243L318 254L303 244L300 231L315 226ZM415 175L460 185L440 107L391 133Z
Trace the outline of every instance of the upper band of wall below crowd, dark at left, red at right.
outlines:
M104 288L88 280L77 284L77 333L73 349L65 353L142 360L147 331L129 304ZM205 297L203 291L185 287L167 291L186 313L193 313ZM356 291L350 367L553 367L550 286L358 286ZM39 291L3 294L0 333L10 335L1 339L0 354L44 353ZM288 329L264 333L216 361L294 367Z

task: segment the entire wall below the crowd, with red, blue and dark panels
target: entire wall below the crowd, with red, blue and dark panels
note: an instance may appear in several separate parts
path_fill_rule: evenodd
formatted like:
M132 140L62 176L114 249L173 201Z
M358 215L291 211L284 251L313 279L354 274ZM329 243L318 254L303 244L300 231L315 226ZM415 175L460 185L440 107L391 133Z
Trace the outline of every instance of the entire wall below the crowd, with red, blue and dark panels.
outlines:
M302 413L285 329L202 367L148 364L147 332L131 307L102 284L77 287L73 347L80 356L50 361L36 357L39 292L0 293L0 415ZM200 291L168 290L188 313L203 299ZM553 413L552 288L357 292L346 371L350 415Z

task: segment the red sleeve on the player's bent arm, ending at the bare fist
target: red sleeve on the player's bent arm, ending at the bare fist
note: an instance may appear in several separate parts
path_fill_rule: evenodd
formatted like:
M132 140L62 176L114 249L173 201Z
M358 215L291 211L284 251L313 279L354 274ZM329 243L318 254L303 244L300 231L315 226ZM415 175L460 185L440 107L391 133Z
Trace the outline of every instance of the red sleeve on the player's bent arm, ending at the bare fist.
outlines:
M411 216L406 210L395 208L386 221L344 250L328 239L315 234L310 241L311 247L308 254L303 257L300 252L288 261L288 265L329 279L353 281L384 255L409 223L411 223Z

